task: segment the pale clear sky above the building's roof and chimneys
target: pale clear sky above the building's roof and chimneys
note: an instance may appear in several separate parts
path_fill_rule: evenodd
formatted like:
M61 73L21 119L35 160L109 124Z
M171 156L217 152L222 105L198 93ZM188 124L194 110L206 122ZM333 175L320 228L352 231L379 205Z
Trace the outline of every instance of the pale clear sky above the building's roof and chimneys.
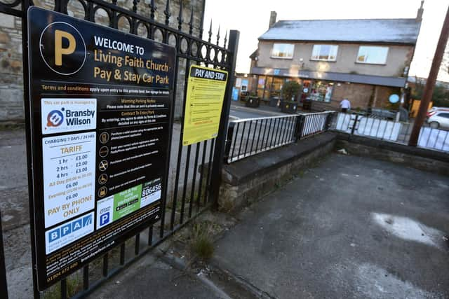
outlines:
M420 4L421 0L206 0L204 27L208 31L212 20L213 41L219 25L222 37L225 29L239 30L236 71L248 73L249 56L257 49L257 38L268 29L270 11L276 11L277 20L415 18ZM424 1L410 76L429 76L448 6L449 0ZM448 72L440 71L438 80L449 81Z

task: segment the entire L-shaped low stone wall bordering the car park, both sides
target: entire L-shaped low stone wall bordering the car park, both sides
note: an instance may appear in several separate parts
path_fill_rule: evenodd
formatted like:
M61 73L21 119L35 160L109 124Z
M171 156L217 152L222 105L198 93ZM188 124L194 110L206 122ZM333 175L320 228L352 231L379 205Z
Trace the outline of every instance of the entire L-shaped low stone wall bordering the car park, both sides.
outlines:
M394 142L325 132L272 151L254 155L222 169L219 209L237 211L285 184L305 167L335 150L399 163L441 175L449 175L449 154Z

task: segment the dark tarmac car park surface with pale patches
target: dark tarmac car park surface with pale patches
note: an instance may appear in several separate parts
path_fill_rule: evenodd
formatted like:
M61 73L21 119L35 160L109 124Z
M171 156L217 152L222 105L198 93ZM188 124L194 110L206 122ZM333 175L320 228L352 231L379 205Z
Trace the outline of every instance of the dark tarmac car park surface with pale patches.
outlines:
M448 298L449 178L331 155L239 214L214 263L270 298Z

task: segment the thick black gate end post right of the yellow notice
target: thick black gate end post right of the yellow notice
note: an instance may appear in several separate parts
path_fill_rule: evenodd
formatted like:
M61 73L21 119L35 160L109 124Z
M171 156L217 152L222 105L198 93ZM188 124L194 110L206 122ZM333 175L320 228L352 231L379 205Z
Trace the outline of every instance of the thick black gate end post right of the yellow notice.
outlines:
M229 43L228 49L229 54L227 57L227 65L229 66L228 71L228 81L225 92L225 99L223 101L222 116L220 118L220 127L218 129L217 141L215 142L215 154L212 164L212 200L213 209L218 208L218 196L220 195L220 183L223 165L223 156L225 155L225 143L226 143L226 128L229 121L229 110L231 109L231 96L232 87L234 86L235 76L234 72L236 69L237 62L237 50L239 49L239 36L240 32L237 30L231 30L229 32Z

